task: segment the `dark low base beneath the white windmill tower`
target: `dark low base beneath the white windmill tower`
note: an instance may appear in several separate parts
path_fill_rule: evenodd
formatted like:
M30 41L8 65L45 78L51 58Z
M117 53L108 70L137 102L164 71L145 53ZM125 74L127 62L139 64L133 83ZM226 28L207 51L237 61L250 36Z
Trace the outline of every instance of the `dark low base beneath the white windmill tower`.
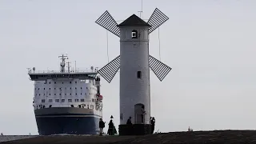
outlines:
M119 135L151 134L151 124L119 125Z

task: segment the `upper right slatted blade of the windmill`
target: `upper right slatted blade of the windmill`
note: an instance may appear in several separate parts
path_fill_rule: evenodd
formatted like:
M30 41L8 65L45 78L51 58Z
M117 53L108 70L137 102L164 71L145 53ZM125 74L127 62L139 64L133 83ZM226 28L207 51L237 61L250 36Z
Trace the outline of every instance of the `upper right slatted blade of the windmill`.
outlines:
M153 32L155 29L157 29L159 26L161 26L168 19L169 18L166 16L166 14L163 14L162 11L156 8L153 14L150 16L149 21L147 22L151 26L149 29L149 34Z

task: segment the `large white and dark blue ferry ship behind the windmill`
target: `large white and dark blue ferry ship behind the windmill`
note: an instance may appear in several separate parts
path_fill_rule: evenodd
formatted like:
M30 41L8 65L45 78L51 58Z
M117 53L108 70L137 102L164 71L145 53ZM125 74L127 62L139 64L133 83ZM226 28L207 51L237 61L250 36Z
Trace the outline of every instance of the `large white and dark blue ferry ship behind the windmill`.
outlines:
M90 70L70 70L67 56L59 58L60 71L28 69L34 81L38 134L99 134L102 95L97 70L93 66Z

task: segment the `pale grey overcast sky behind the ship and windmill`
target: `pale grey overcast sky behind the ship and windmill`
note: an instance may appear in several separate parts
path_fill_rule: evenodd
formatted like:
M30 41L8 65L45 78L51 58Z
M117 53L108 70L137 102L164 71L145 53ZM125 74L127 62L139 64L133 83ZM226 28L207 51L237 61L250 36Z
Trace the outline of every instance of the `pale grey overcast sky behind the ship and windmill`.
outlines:
M151 115L156 130L255 129L256 2L254 0L144 0L142 18L158 7L170 19L160 27L161 60L173 70L163 82L151 73ZM77 67L107 63L105 11L116 21L138 14L138 0L1 0L0 132L38 134L27 67L58 70L58 55ZM110 60L119 40L109 34ZM158 30L150 54L159 59ZM119 122L119 74L102 79L103 118Z

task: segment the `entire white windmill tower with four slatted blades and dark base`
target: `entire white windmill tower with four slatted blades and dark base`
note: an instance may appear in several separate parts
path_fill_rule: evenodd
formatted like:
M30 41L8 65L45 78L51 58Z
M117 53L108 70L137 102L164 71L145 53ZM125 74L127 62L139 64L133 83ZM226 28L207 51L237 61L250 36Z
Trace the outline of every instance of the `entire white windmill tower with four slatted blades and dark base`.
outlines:
M117 24L108 11L96 21L120 37L120 55L98 70L111 82L120 68L120 135L150 134L150 69L162 81L171 68L150 56L149 34L168 19L155 9L148 22L133 14Z

